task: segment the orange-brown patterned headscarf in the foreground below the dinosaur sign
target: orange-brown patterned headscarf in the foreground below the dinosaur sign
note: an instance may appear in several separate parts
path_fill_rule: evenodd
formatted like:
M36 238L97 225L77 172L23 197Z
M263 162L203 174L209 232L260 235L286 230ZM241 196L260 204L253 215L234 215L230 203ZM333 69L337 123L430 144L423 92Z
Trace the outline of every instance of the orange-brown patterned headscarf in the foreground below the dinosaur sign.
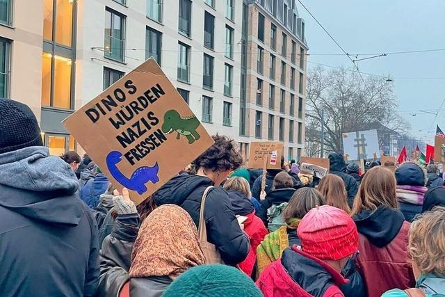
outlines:
M195 224L188 213L164 204L147 216L140 226L131 252L130 278L165 276L177 278L205 262Z

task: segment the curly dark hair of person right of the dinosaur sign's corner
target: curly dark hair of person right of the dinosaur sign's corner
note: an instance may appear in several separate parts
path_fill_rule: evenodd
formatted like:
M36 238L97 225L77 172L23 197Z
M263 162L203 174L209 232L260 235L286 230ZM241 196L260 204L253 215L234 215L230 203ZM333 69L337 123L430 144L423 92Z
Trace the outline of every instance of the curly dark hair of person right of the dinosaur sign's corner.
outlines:
M212 138L215 143L195 159L196 169L235 170L243 165L243 157L233 139L218 134Z

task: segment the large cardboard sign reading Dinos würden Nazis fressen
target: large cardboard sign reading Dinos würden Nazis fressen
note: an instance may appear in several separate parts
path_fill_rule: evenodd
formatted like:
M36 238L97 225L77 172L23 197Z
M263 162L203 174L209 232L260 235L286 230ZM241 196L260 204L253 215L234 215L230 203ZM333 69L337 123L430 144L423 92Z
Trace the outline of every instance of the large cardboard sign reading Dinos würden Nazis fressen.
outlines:
M136 204L213 144L153 58L63 124L118 189Z

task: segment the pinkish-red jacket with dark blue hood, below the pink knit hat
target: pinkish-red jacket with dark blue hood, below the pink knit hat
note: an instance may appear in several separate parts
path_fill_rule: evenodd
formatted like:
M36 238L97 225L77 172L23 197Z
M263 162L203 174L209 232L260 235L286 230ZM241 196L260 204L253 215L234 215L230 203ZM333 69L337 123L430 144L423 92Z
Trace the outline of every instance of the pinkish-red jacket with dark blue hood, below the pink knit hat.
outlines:
M348 280L296 246L267 266L257 280L265 297L343 297L339 287Z

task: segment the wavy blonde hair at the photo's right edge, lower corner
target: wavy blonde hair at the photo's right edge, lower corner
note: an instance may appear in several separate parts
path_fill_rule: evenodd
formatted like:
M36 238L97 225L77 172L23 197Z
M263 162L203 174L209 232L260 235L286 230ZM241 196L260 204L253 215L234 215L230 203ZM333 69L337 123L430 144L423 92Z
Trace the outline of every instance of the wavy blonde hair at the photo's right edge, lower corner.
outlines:
M445 207L435 207L411 223L408 250L422 274L445 275Z

